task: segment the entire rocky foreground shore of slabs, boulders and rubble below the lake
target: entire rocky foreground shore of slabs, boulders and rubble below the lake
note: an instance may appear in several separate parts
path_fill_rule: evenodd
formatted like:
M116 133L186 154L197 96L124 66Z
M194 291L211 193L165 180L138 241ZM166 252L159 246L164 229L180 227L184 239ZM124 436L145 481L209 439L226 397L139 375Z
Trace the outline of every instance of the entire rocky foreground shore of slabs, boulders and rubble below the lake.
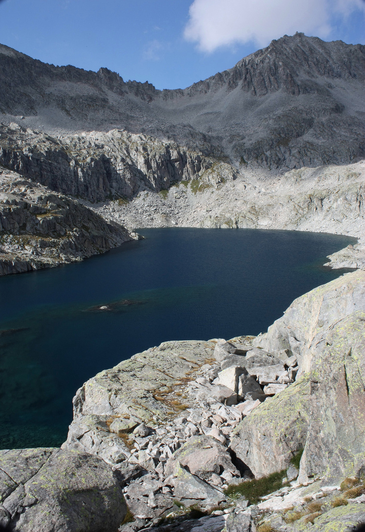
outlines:
M34 522L42 532L116 530L125 513L123 492L134 514L123 532L220 532L225 525L227 532L244 532L264 522L279 532L312 523L317 532L329 523L345 532L364 515L364 495L338 502L345 477L360 483L365 477L364 291L365 272L347 273L297 298L264 335L165 342L98 373L74 397L61 451L2 452L12 464L22 453L35 456L21 467L23 479L6 464L0 468L4 522L24 532ZM298 470L291 459L303 449ZM95 496L87 523L83 508L90 499L80 495L84 481L78 492L79 472L72 473L84 467L87 493ZM93 474L96 467L101 475ZM40 489L34 479L42 471ZM285 471L290 484L259 504L247 508L244 497L233 500L225 491L276 471ZM66 500L65 493L72 496ZM311 501L319 512L310 513ZM182 505L213 514L161 524L184 514ZM38 509L61 524L41 528L48 525ZM109 528L99 525L94 510L107 513ZM288 522L287 511L297 520Z

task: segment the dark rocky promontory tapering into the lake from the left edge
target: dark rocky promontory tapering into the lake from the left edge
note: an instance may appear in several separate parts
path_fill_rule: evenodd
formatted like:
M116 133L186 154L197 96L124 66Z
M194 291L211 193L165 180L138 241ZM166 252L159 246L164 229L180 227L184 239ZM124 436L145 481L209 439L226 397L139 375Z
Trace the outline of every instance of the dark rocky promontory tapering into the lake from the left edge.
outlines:
M80 261L132 238L77 201L0 168L0 275Z

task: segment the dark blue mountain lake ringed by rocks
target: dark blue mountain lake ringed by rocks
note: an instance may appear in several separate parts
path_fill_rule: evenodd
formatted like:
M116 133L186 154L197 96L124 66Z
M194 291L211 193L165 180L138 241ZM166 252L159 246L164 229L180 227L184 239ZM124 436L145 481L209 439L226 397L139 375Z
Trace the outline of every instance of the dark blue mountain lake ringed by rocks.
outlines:
M145 240L85 262L0 279L0 448L60 445L77 388L134 353L266 330L295 297L341 275L322 264L355 242L252 229L140 232Z

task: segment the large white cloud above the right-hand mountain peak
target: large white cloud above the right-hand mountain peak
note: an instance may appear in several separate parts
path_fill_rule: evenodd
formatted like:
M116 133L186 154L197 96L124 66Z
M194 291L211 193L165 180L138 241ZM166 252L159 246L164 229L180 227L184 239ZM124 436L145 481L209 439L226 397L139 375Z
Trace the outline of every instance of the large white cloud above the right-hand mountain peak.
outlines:
M326 38L333 14L364 10L363 0L194 0L184 37L203 52L220 46L270 40L303 31Z

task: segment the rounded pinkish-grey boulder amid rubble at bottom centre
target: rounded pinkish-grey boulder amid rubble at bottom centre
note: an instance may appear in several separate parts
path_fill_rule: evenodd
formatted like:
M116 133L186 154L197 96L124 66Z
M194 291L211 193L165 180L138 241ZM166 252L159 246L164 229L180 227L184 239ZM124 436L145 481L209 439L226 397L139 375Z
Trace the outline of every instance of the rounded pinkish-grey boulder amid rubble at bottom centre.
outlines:
M213 473L220 475L222 471L240 476L227 448L212 436L189 438L166 462L165 475L171 475L178 462L190 473L204 480L210 479Z

